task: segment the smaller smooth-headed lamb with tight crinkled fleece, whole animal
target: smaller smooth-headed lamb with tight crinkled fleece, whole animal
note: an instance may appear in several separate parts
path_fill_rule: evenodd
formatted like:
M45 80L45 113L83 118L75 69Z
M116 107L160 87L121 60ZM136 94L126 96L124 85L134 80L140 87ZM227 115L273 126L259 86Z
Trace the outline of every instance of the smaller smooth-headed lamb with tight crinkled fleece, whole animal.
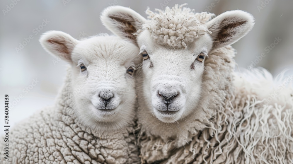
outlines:
M1 151L1 163L140 163L134 134L138 48L117 36L76 40L61 31L43 34L40 43L69 63L65 82L54 106L13 127L9 160Z

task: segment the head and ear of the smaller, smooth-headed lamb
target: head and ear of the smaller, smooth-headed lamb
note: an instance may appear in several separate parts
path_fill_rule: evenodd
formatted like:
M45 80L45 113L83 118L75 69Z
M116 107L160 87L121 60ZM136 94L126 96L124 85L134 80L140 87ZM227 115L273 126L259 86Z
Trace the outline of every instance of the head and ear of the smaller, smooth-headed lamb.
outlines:
M138 48L114 36L75 40L51 31L41 38L43 47L72 66L69 95L78 118L95 129L117 129L134 117Z

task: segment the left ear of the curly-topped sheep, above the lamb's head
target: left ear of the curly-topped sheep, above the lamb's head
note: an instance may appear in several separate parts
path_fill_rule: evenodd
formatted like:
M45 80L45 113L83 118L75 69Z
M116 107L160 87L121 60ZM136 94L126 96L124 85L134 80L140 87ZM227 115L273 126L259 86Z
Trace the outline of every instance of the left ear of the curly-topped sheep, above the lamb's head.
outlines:
M122 6L109 6L101 13L100 19L103 25L112 33L129 39L137 45L137 30L142 28L146 21L139 13Z

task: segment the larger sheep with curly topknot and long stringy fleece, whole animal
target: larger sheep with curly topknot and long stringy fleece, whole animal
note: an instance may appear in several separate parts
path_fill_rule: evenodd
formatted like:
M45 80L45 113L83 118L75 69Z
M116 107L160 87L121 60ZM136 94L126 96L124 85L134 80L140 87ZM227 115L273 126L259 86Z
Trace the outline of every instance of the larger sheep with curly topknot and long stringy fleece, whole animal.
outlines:
M100 16L144 60L137 77L142 163L292 163L293 87L269 101L278 87L268 71L234 71L231 44L253 28L253 16L185 5L148 8L148 19L122 6Z

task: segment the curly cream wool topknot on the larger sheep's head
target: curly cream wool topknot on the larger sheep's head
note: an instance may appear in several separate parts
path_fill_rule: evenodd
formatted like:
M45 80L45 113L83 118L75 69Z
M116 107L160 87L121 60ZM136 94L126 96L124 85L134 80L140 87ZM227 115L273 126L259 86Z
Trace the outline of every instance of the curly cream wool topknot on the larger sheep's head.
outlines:
M148 29L151 37L160 45L187 49L196 39L211 33L205 23L215 15L195 13L194 10L183 7L185 5L187 4L176 4L171 9L166 7L165 11L155 9L158 13L148 8L146 13L150 20L144 25L144 29Z

